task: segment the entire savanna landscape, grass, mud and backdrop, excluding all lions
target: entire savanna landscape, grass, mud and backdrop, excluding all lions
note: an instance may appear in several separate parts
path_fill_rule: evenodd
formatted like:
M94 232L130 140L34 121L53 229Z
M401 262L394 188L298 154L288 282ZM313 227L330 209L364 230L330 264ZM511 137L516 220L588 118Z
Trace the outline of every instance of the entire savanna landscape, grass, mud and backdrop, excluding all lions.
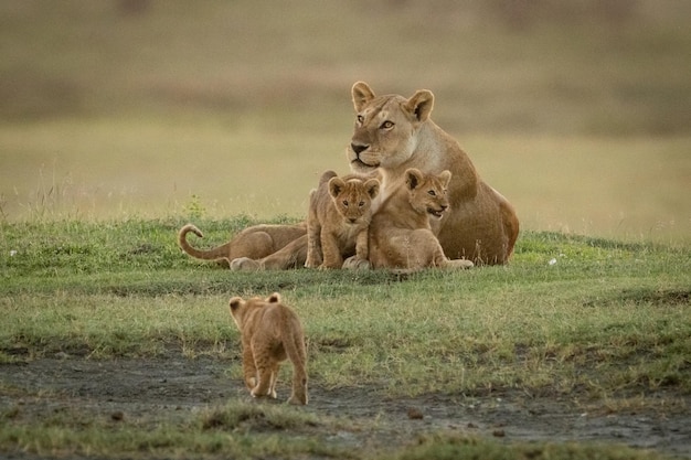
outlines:
M0 6L0 456L691 458L691 8ZM350 87L432 118L515 206L510 264L235 272L348 172ZM310 404L251 399L231 296L300 315Z

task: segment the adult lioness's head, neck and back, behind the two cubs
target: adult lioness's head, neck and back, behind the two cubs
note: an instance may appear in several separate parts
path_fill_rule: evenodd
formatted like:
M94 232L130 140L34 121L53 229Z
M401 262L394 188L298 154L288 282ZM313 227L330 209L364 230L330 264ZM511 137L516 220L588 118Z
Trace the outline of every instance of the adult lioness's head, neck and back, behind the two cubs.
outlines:
M449 211L432 223L444 253L477 264L504 264L513 252L519 221L511 204L482 182L458 142L429 118L432 92L412 97L375 96L364 82L352 87L357 111L348 161L354 172L379 169L383 174L381 200L405 182L405 171L451 172Z

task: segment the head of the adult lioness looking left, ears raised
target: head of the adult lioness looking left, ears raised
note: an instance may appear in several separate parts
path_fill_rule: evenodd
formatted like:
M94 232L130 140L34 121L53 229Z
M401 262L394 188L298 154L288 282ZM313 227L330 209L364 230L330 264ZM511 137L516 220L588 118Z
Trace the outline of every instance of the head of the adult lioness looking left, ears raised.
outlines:
M406 99L398 95L375 96L364 82L352 87L355 128L348 147L354 172L374 168L396 169L417 148L417 130L432 113L434 95L422 89Z

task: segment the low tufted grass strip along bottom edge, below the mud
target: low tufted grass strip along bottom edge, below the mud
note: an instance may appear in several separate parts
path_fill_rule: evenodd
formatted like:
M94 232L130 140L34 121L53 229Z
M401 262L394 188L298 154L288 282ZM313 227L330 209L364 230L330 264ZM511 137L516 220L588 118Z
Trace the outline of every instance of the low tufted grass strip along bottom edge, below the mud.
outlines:
M17 418L17 414L4 414ZM65 409L45 417L40 426L14 421L0 431L0 446L17 446L43 457L110 458L113 452L145 458L339 458L339 459L666 459L650 451L595 443L515 442L458 432L421 434L410 446L384 452L376 449L333 447L309 439L316 430L363 431L371 427L346 419L318 417L286 406L228 403L194 414L182 422L152 425L117 415L94 420ZM20 441L29 440L29 441Z

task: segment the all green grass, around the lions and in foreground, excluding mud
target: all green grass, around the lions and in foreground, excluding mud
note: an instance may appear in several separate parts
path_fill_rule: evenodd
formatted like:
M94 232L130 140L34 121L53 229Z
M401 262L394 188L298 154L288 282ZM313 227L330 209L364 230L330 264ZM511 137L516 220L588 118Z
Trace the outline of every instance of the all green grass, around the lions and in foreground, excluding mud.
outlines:
M326 389L366 387L390 398L518 391L615 414L691 394L688 246L524 232L507 267L405 278L307 269L242 274L182 255L174 235L184 222L2 223L0 359L107 362L172 353L237 363L227 299L280 291L305 323L311 382ZM246 216L199 221L210 244L251 223ZM230 378L240 379L238 366ZM71 410L41 426L6 426L0 449L157 457L194 446L199 457L354 458L363 452L328 447L316 434L342 426L368 429L288 407L232 402L155 428L137 425L143 421L118 428ZM6 409L2 417L12 414ZM437 432L421 435L415 448L368 456L442 459L481 452L499 459L507 449L483 438ZM513 442L510 451L519 458L639 454L568 443Z

